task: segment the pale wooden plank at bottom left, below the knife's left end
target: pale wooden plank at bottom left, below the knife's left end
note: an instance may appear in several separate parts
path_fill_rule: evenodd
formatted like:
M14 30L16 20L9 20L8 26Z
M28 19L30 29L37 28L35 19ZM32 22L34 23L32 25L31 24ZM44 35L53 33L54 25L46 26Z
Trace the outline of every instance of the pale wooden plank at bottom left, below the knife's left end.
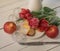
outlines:
M8 47L5 47L3 49L0 49L0 51L18 51L19 49L22 50L24 48L27 48L27 46L22 46L22 45L19 45L17 43L14 43Z

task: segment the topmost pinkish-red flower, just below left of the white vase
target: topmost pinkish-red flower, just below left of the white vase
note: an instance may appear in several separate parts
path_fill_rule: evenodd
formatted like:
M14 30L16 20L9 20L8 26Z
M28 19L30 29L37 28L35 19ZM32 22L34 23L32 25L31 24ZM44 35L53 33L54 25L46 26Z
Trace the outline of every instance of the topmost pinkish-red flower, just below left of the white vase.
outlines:
M22 9L19 13L19 17L22 19L30 20L32 18L32 14L30 13L29 9Z

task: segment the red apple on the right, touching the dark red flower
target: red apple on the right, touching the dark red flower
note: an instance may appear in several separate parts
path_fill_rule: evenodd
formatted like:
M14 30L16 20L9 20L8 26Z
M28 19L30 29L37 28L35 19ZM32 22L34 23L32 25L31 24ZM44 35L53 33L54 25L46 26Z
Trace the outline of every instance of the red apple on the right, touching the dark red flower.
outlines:
M45 33L50 38L56 38L59 33L59 30L57 26L51 25Z

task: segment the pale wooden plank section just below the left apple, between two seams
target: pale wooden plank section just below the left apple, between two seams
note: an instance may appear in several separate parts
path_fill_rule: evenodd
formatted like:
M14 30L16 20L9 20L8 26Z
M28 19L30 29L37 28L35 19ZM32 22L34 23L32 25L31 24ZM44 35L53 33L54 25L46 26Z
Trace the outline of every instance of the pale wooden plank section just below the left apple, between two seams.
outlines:
M0 31L0 48L14 42L11 35L8 35L3 30Z

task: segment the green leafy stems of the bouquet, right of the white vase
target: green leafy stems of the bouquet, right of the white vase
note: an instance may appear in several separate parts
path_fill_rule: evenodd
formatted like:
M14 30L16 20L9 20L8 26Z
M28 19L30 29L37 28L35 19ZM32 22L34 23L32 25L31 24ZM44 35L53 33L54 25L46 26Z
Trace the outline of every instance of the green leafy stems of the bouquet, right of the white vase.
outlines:
M56 8L59 7L60 6ZM39 12L32 11L31 13L38 19L45 18L49 22L49 24L58 26L60 25L60 18L56 16L56 11L54 10L56 8L51 9L49 7L43 7Z

